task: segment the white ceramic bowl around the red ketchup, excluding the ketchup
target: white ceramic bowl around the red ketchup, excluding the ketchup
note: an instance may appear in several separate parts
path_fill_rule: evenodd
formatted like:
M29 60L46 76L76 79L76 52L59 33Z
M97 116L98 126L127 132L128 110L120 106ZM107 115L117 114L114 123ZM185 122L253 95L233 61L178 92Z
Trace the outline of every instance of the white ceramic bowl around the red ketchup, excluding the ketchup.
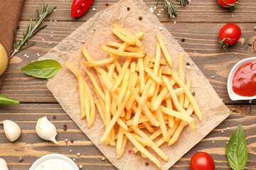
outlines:
M250 57L244 60L241 60L235 66L231 69L230 74L228 76L228 95L230 96L230 99L232 101L241 101L241 100L252 100L256 99L256 96L252 97L245 97L245 96L239 96L238 94L235 94L235 92L232 89L232 80L234 77L235 72L238 70L238 68L242 65L245 64L246 62L250 62L252 60L256 60L256 57Z

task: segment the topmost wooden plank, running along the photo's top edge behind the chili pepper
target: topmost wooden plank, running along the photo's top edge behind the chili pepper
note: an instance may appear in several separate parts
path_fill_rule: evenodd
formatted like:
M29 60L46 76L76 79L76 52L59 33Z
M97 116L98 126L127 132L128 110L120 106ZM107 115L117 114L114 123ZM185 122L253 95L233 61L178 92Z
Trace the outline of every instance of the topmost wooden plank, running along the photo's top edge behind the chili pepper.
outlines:
M50 6L57 6L56 11L48 16L48 20L57 21L87 21L97 11L107 8L105 3L110 5L116 3L118 0L98 0L94 1L85 15L80 18L71 18L70 9L73 0L44 0L45 4ZM156 1L144 0L146 5L154 7ZM23 12L21 13L21 21L29 20L30 16L36 16L36 8L41 8L41 1L38 0L26 0L23 4ZM92 9L95 8L95 11ZM164 9L164 0L159 1L159 6L154 11L155 14L159 13L161 9ZM178 21L178 22L243 22L243 23L255 23L256 14L256 1L247 0L239 1L238 8L234 11L229 11L218 5L217 1L205 1L205 0L193 0L187 6L178 6L181 13L178 13L178 17L170 19L164 11L161 11L161 16L157 16L160 21Z

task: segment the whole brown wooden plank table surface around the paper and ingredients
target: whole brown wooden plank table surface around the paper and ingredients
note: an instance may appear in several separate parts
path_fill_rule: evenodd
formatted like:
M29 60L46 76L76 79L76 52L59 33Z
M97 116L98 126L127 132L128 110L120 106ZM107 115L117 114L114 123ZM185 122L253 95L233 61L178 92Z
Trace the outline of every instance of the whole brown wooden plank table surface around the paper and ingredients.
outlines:
M0 120L14 120L22 130L21 137L16 142L10 143L4 136L3 126L0 126L0 157L8 162L10 170L28 169L36 159L51 153L65 154L75 159L75 162L78 165L81 164L83 169L116 169L107 159L102 161L104 156L99 149L90 142L63 111L60 104L55 101L46 87L47 80L28 77L20 69L29 62L38 60L38 54L43 55L48 52L97 11L107 8L105 3L110 6L117 0L95 0L84 16L75 19L70 17L72 0L44 1L50 6L57 6L57 9L44 21L44 24L48 26L33 36L32 40L36 41L35 45L19 52L12 58L0 92L1 95L21 101L19 106L0 106ZM155 14L164 8L164 1L160 1ZM156 4L156 1L153 0L145 0L145 2L149 7ZM22 38L22 32L26 31L29 16L35 18L36 8L41 8L41 1L24 1L18 38ZM92 8L95 8L96 11L92 11ZM181 13L178 13L178 17L175 19L170 19L162 11L161 16L158 16L159 20L188 52L220 98L223 98L232 114L185 154L171 169L189 169L190 159L196 152L211 154L215 160L216 169L230 169L225 156L225 145L239 123L242 124L247 139L247 169L256 169L255 102L249 104L248 101L231 101L227 91L228 74L233 65L244 58L255 56L252 47L247 43L256 39L256 30L254 30L256 1L240 0L235 11L228 11L218 6L215 0L192 0L191 4L180 8ZM218 31L225 23L230 22L238 23L242 30L242 36L236 45L223 50L218 45ZM50 35L53 37L51 38ZM185 42L181 42L181 38L185 38ZM52 42L52 44L49 45L48 42ZM28 55L28 59L24 57L25 54ZM55 119L53 119L53 115L56 116ZM36 135L36 121L43 116L47 116L58 129L57 140L60 145L41 140ZM66 131L63 130L64 124L68 125ZM65 139L73 139L74 142L68 142L66 145ZM78 152L81 154L80 157L77 156ZM18 162L18 157L23 157L23 162Z

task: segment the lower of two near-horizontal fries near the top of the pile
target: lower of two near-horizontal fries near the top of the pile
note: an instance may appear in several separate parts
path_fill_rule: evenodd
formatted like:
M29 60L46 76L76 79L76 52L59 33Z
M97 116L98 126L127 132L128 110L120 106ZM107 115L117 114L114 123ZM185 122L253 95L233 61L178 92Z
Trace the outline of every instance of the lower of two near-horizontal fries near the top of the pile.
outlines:
M113 48L110 48L110 47L107 47L107 46L101 45L101 44L100 44L100 48L103 51L110 53L112 55L119 55L119 56L123 56L123 57L142 58L146 55L142 52L123 52L123 51L115 50Z

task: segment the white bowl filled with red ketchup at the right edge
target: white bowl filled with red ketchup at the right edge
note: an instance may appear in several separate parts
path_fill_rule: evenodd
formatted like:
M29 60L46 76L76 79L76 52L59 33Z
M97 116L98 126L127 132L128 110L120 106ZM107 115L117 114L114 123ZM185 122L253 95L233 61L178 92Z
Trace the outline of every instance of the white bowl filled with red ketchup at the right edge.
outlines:
M256 98L256 57L241 60L231 69L228 95L232 101Z

